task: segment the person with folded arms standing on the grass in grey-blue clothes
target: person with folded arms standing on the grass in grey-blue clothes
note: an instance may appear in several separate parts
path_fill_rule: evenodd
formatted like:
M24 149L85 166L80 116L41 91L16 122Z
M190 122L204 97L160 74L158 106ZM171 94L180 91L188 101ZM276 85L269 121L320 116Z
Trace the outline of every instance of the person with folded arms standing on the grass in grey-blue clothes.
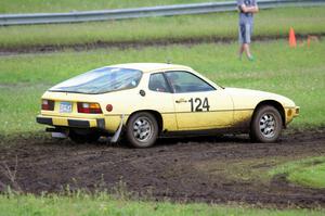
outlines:
M253 61L249 45L252 34L253 14L259 12L259 8L256 0L237 0L237 7L239 11L239 60L242 60L243 52L245 52L248 60Z

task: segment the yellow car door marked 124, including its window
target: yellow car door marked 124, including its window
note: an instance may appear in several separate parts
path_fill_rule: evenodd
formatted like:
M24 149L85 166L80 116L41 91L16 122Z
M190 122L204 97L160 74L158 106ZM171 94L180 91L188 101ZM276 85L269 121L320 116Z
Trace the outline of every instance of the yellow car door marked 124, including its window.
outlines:
M233 102L222 89L216 89L191 72L165 73L173 90L179 130L213 129L233 123Z

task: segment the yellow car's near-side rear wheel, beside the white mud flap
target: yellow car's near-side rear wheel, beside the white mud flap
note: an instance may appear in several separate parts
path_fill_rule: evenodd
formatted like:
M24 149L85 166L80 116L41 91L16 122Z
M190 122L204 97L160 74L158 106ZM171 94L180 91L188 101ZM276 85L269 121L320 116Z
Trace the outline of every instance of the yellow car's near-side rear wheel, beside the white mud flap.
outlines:
M126 132L127 140L132 147L148 148L156 142L158 124L151 113L135 113L130 116Z

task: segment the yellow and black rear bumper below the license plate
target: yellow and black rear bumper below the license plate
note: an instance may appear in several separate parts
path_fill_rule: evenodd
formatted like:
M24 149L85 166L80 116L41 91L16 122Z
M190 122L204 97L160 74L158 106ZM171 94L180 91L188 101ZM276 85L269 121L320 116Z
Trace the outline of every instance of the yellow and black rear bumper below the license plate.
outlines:
M105 129L104 118L68 118L57 116L38 115L36 122L50 126L74 127L74 128L100 128Z

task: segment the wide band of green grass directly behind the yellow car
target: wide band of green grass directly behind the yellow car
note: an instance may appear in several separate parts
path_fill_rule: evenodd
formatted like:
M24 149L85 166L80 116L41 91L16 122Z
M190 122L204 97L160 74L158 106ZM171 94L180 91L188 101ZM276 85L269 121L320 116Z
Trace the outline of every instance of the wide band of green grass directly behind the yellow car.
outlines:
M255 42L257 60L237 59L237 43L205 43L143 49L102 49L0 56L0 134L30 134L40 97L52 85L103 65L126 62L166 62L192 66L222 86L244 87L284 94L301 106L290 127L324 126L325 41L310 48L288 48L287 41Z

